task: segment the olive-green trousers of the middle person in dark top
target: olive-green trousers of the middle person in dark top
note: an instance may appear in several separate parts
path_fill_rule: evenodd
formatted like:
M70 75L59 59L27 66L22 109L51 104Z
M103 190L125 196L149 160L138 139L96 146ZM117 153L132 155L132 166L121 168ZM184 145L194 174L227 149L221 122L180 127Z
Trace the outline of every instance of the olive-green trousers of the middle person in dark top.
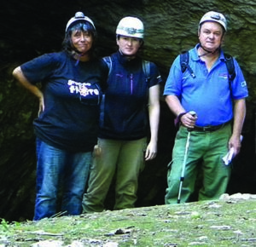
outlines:
M113 210L133 208L137 200L138 175L143 169L146 138L136 141L99 139L101 152L93 160L89 186L83 198L83 213L101 212L115 175Z

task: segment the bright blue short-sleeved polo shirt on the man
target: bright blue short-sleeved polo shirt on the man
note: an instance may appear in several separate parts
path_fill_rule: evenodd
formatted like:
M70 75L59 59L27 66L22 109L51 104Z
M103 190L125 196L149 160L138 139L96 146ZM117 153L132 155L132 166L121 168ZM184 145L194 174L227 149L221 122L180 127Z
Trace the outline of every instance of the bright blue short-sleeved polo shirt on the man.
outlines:
M233 118L233 100L247 97L247 83L236 59L236 78L229 85L228 70L221 51L210 72L206 63L198 57L197 49L189 50L189 66L195 73L181 71L180 56L174 60L164 89L164 95L177 95L186 111L195 111L198 126L224 124Z

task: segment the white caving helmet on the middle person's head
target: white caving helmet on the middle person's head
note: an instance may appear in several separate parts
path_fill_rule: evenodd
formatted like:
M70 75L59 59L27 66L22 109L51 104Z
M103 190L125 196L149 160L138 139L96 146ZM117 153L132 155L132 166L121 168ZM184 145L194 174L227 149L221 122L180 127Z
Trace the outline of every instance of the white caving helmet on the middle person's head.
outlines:
M143 21L137 17L127 16L119 21L119 25L116 28L117 35L123 35L127 37L144 37L144 25Z

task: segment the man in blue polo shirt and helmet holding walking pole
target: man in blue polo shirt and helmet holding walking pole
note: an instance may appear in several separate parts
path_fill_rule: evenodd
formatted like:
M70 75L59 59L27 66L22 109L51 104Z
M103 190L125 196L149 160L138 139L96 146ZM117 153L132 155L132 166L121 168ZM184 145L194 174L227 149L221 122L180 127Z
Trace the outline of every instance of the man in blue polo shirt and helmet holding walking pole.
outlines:
M189 66L195 78L188 69L182 72L180 56L174 60L167 78L166 103L177 116L180 128L168 172L166 204L191 201L199 172L199 200L218 199L230 180L230 166L222 158L231 148L234 157L240 151L248 92L235 59L236 78L229 83L221 49L226 31L223 14L204 14L198 29L199 43L189 50Z

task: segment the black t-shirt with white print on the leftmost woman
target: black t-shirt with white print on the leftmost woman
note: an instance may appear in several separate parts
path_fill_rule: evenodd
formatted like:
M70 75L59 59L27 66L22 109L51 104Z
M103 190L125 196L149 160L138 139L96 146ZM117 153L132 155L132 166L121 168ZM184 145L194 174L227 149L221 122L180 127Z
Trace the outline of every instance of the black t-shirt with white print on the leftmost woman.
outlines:
M42 83L44 112L33 123L38 138L60 149L89 152L96 144L108 66L102 60L76 62L60 52L20 67L30 83Z

